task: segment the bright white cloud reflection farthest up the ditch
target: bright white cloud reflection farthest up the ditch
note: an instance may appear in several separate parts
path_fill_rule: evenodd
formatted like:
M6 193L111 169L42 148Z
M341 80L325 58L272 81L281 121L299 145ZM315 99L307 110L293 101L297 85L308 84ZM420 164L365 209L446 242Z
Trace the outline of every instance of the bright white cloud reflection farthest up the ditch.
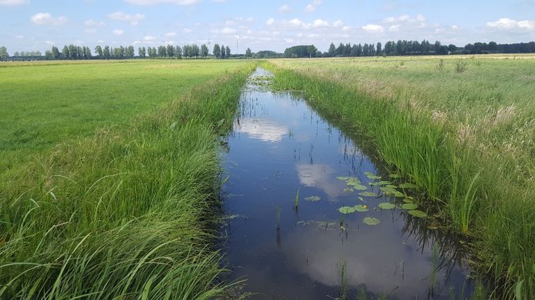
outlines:
M288 127L265 119L245 118L234 128L236 132L249 134L254 139L279 142L288 134Z

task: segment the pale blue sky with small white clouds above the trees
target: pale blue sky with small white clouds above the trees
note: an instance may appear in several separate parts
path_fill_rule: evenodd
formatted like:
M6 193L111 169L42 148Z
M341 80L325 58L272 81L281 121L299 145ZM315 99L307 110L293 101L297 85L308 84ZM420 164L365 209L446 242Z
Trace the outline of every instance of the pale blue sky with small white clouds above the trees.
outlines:
M8 53L55 45L208 44L232 53L296 44L535 40L535 0L0 0Z

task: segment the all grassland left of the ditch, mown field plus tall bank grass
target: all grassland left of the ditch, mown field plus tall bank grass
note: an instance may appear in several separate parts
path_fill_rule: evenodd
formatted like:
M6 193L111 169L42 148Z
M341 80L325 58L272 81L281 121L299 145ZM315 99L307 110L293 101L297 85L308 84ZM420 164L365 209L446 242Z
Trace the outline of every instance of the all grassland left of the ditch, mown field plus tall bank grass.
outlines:
M217 143L254 64L3 66L0 299L222 297Z

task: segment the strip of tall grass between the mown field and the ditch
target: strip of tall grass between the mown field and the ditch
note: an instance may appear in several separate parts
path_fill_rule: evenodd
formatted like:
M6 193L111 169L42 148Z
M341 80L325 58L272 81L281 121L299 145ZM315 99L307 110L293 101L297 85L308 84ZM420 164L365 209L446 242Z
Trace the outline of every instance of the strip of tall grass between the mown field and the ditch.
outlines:
M224 294L227 286L215 280L220 256L210 249L218 206L217 137L230 129L253 66L218 63L219 73L199 80L201 87L181 90L167 104L172 92L159 96L161 108L151 113L122 116L119 121L129 125L108 115L117 125L68 139L1 174L0 299ZM202 68L210 69L208 64ZM145 78L146 84L153 81ZM145 85L140 94L162 93L159 84L151 86L154 91Z

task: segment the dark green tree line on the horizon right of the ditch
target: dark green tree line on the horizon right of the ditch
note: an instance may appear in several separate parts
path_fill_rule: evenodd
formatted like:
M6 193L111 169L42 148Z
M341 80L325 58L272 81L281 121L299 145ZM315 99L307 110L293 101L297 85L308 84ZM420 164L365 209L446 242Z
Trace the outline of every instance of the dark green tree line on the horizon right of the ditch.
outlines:
M486 53L535 53L535 42L516 44L497 44L496 42L467 44L458 47L454 44L443 45L427 40L388 41L384 44L343 44L331 43L326 52L318 51L314 45L299 45L286 48L286 58L334 58L378 55L447 55L447 54L486 54Z

